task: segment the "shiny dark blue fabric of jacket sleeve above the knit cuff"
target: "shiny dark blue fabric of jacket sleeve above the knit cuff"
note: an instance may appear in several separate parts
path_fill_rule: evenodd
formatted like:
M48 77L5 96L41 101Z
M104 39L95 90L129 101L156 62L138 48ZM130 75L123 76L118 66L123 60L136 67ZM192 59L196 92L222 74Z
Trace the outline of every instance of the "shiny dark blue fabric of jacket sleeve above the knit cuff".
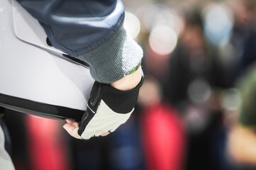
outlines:
M123 23L121 0L17 0L45 29L54 47L71 56L101 45Z

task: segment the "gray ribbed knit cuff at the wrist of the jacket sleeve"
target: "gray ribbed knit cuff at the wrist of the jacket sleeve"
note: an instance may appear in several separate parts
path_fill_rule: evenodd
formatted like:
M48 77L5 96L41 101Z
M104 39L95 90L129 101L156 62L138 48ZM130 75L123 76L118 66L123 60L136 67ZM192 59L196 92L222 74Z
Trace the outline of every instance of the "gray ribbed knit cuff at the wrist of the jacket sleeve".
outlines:
M101 83L112 83L129 74L143 57L143 50L121 26L96 49L77 56L90 66L91 76Z

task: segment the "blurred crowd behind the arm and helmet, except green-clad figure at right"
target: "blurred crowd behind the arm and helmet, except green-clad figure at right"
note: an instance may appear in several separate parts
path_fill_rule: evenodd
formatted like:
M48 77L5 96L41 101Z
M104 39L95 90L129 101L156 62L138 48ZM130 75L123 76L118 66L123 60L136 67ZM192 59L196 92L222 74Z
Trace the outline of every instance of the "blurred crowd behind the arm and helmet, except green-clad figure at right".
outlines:
M144 50L135 113L111 135L82 141L64 121L5 110L16 169L255 169L233 159L228 135L242 103L238 82L256 59L256 1L123 3L124 26Z

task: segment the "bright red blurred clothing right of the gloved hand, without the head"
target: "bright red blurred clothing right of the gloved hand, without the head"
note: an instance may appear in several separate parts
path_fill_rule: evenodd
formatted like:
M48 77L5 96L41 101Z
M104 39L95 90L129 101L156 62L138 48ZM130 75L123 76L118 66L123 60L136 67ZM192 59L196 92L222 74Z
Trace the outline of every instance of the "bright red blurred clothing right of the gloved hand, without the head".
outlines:
M166 104L159 104L145 109L142 121L148 169L184 169L187 142L184 125L177 112Z

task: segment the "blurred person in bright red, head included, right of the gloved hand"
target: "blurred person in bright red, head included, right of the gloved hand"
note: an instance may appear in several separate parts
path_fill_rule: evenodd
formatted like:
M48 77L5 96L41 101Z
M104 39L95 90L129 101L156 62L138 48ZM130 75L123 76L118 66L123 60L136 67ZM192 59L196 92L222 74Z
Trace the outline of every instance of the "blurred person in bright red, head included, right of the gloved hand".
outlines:
M182 170L187 149L187 135L177 111L164 101L161 86L148 78L140 90L143 148L146 169Z

